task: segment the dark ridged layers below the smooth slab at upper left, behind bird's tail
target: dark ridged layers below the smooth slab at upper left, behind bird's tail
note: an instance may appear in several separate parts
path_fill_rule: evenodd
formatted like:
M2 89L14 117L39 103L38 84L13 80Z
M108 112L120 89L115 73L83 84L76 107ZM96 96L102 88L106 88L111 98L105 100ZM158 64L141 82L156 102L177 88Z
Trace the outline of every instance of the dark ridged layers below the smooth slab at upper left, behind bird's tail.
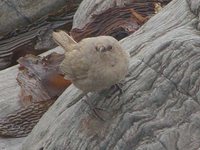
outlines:
M57 8L57 11L53 11L51 9L53 9L54 6L52 6L53 4L51 2L52 1L47 3L49 5L49 13L46 12L44 16L41 17L44 12L40 11L38 12L37 17L32 20L33 22L23 24L22 27L13 29L5 35L2 35L0 32L0 70L15 65L16 60L25 54L38 55L46 50L56 47L56 44L51 38L53 30L64 28L65 30L70 31L73 15L79 3L75 1L71 4L70 1L67 1L64 5ZM59 2L60 1L58 1L58 3ZM39 5L40 3L41 2L36 1L35 5ZM27 11L34 13L35 8L29 9L30 10ZM9 13L7 15L9 15ZM39 19L36 20L36 18ZM1 19L2 18L0 18L0 22ZM2 21L2 23L4 22ZM17 26L17 23L15 25ZM9 25L9 27L10 26L12 25ZM2 25L0 23L0 28L1 27Z

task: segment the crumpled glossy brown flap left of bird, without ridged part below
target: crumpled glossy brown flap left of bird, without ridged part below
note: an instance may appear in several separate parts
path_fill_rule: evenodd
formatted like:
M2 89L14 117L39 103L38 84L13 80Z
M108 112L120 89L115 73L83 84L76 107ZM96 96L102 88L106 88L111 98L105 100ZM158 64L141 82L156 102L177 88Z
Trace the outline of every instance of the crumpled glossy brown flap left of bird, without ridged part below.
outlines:
M31 102L56 99L70 83L59 71L63 59L64 55L57 53L44 58L34 55L21 57L17 76L21 87L20 99L31 99Z

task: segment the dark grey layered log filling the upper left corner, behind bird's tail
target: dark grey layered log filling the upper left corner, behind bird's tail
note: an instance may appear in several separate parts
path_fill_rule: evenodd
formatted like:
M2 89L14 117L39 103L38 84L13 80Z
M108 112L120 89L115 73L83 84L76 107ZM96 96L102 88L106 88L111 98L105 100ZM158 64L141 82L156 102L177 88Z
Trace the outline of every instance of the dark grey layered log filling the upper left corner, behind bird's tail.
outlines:
M51 38L52 31L71 29L73 15L81 0L73 1L73 3L70 0L22 1L0 2L0 14L1 11L3 14L0 16L0 70L15 65L16 60L21 56L38 55L56 47ZM13 7L10 6L11 4ZM25 23L24 17L20 14L26 14L24 17L31 21ZM18 23L23 25L19 26ZM5 30L4 26L8 28Z

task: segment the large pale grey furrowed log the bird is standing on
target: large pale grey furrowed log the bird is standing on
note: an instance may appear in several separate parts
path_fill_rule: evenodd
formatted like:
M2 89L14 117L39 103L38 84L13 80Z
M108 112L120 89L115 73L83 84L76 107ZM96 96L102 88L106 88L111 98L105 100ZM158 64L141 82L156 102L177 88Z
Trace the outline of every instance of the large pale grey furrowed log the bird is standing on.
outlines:
M109 6L108 1L93 2L83 2L79 19L85 10ZM174 0L120 41L132 57L124 94L119 97L115 92L106 99L105 93L90 94L96 106L108 110L103 113L106 121L92 115L72 85L42 117L22 149L199 149L199 7L200 1Z

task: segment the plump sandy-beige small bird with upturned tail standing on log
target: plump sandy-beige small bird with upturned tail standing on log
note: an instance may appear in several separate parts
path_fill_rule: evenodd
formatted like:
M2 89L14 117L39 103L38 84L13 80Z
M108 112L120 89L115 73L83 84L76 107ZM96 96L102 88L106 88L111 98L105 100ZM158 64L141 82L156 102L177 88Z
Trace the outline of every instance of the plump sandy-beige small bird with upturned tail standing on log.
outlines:
M65 58L60 64L64 78L87 98L87 93L108 89L128 74L130 55L112 36L88 37L77 43L59 30L54 31L52 37L65 50Z

